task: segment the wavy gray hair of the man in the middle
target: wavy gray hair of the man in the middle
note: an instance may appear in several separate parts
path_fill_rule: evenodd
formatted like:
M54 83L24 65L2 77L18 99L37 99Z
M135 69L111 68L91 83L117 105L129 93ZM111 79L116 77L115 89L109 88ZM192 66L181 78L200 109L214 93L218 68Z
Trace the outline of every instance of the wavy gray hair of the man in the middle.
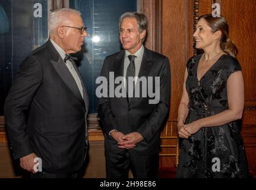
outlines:
M138 12L125 12L119 18L119 29L121 28L122 21L124 21L125 18L135 18L138 23L137 28L139 33L141 33L143 30L146 30L146 34L147 34L148 19L146 15ZM142 42L144 42L145 38L146 38L146 35L143 37Z

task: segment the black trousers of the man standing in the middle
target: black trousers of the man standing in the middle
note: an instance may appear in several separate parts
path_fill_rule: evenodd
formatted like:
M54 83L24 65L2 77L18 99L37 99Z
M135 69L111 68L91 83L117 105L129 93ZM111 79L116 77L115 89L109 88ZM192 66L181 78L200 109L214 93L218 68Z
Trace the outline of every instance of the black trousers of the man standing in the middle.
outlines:
M138 156L130 150L105 152L107 178L128 178L129 169L134 178L157 178L159 155Z

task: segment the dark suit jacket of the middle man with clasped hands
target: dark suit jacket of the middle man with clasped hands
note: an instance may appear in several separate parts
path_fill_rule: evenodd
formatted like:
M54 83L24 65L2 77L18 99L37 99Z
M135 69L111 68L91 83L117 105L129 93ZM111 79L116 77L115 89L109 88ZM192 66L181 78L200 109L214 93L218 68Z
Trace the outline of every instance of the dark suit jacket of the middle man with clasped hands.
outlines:
M108 78L109 72L116 77L124 76L125 50L105 58L101 75ZM109 136L112 129L124 134L137 131L143 141L130 151L140 154L156 154L160 147L160 129L166 120L170 100L170 65L169 59L157 52L144 49L138 77L160 77L160 101L148 104L147 97L133 97L128 104L126 97L102 97L99 99L98 113L105 130L106 151L118 152L116 141ZM119 84L115 84L115 87ZM137 84L136 84L137 85ZM141 90L140 90L141 92Z

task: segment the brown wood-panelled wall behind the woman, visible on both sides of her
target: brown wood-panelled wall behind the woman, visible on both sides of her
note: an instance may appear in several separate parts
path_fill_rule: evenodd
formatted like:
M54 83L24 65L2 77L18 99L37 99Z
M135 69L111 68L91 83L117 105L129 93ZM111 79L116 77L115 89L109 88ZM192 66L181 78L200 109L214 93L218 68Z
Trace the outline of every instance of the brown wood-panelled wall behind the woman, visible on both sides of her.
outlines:
M229 37L239 49L238 60L245 81L245 110L242 119L242 136L245 142L249 169L256 172L256 1L250 0L162 0L161 51L169 57L172 69L172 100L169 122L177 117L181 98L185 64L194 49L192 33L197 18L210 14L211 5L219 3L221 14L229 22ZM174 144L173 144L174 145ZM162 166L172 166L169 157ZM254 173L255 175L255 173Z

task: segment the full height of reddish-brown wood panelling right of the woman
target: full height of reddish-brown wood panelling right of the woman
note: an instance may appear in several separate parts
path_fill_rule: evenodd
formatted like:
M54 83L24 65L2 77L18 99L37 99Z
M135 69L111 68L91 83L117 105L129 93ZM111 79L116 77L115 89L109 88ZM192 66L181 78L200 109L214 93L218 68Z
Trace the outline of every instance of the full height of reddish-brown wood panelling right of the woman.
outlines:
M256 175L256 1L222 0L222 15L229 22L229 37L238 47L238 61L245 83L242 137L249 170Z

